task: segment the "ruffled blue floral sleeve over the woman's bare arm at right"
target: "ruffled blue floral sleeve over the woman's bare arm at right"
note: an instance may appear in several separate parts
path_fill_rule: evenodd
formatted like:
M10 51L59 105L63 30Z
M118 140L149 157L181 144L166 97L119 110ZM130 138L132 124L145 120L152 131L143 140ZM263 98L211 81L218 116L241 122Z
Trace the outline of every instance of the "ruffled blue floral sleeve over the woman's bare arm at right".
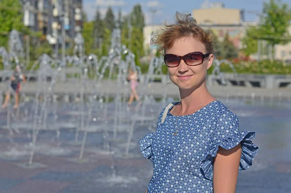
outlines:
M208 156L201 162L201 173L210 180L213 180L213 159L216 157L219 147L229 150L241 143L239 172L252 165L259 149L251 140L256 136L255 132L239 131L238 118L235 115L224 115L217 123L213 140L208 147Z

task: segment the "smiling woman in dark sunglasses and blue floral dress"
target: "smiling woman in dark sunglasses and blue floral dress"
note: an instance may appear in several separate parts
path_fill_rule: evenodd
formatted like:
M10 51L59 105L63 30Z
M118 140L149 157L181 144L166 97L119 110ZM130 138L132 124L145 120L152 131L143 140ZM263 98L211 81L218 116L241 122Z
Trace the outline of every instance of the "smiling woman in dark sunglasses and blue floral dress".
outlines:
M258 152L254 132L239 130L238 118L206 87L213 62L213 39L191 15L153 34L164 54L180 102L165 107L155 133L140 140L153 162L147 193L235 193L238 172L249 168Z

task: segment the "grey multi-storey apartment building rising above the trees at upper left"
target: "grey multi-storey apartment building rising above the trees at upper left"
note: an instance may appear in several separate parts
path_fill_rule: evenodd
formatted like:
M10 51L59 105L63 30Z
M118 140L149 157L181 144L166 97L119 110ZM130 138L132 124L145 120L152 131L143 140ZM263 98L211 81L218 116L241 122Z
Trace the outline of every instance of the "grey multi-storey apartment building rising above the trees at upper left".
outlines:
M65 29L69 42L82 26L82 0L20 0L23 22L32 31L40 31L50 44L55 44Z

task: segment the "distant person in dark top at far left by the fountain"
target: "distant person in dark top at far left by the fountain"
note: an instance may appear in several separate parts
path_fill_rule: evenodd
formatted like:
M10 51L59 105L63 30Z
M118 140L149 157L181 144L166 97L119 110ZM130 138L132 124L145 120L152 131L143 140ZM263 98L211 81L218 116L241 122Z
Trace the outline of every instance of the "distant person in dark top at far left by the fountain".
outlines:
M15 105L13 107L18 108L19 106L19 92L22 89L21 82L25 83L25 76L24 74L21 73L21 68L19 65L16 66L13 72L13 75L10 77L10 80L11 80L10 88L8 88L6 91L5 101L3 105L1 106L1 108L5 108L8 105L9 100L10 100L10 95L11 95L10 93L11 88L15 92L15 95L14 95Z

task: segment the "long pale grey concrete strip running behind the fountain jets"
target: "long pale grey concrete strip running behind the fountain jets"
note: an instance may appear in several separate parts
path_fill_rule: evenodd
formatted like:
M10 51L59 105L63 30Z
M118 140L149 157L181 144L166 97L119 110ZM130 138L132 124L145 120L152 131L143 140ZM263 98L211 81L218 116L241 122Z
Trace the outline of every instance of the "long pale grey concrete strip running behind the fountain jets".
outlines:
M22 92L26 95L33 96L36 91L48 92L50 83L37 86L36 82L29 82L23 86ZM0 90L3 92L6 90L7 85L1 84ZM74 95L81 93L81 88L85 95L88 94L108 94L109 96L116 96L117 93L129 95L129 84L122 85L121 88L116 84L116 81L103 80L101 81L99 87L96 83L91 81L83 87L81 83L75 82L57 82L52 88L53 93L67 97L67 95ZM290 88L248 88L239 86L213 86L208 85L210 92L215 97L259 97L259 98L286 98L291 99L291 89ZM152 95L156 98L162 98L164 96L168 97L179 97L178 87L174 84L162 84L162 83L150 83L148 85L139 84L138 86L139 94Z

